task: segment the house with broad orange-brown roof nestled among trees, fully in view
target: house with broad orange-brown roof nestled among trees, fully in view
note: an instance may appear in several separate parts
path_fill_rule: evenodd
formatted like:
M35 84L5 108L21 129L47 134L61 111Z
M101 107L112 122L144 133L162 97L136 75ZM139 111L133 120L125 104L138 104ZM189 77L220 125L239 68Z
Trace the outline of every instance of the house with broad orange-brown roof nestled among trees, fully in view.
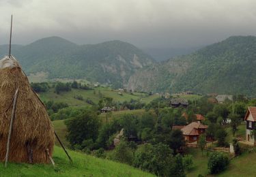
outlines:
M207 125L203 125L200 122L193 122L181 129L186 142L192 143L199 140L199 136L205 133Z

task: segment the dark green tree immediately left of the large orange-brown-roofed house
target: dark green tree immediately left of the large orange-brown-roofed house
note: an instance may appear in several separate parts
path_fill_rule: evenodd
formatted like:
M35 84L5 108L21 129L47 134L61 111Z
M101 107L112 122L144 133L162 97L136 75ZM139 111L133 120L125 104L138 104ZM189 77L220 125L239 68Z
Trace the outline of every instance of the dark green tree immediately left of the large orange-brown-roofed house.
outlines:
M180 150L180 148L182 148L182 146L184 146L185 144L186 143L184 140L184 136L180 129L175 129L171 131L169 146L171 149L173 149L174 154L177 154L177 150Z

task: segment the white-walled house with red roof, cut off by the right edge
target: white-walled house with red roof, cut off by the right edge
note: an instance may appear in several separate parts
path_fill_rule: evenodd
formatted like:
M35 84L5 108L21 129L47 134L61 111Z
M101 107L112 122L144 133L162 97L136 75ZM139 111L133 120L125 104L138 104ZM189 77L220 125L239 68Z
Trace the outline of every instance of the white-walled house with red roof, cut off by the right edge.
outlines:
M256 128L256 107L248 107L244 120L246 121L246 142L256 145L251 131Z

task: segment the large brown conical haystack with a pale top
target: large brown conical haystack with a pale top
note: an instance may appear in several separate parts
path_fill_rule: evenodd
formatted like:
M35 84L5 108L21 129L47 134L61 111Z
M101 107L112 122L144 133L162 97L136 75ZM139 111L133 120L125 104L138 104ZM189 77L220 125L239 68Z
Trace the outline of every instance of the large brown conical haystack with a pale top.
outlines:
M18 88L10 161L48 163L46 149L53 153L54 130L46 109L32 91L27 76L14 57L0 60L0 161L5 159L14 93Z

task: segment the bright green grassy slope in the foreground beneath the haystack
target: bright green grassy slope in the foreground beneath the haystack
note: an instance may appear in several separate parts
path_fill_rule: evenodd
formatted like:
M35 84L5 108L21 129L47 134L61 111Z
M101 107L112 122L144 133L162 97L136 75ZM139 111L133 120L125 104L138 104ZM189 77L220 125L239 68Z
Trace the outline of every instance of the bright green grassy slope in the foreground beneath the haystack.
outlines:
M154 176L139 169L99 159L80 152L69 151L73 163L68 161L63 150L55 146L52 165L9 163L5 168L0 163L0 176Z

